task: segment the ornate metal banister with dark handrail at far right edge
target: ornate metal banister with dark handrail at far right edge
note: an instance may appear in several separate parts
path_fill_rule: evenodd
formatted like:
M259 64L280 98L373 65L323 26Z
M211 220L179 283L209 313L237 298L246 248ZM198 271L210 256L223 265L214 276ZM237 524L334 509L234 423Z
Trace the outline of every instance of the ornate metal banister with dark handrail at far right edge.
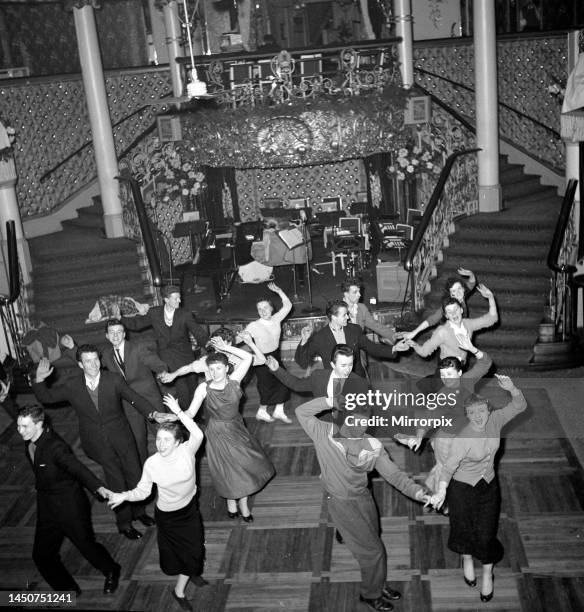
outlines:
M578 181L570 179L547 257L547 266L552 273L548 316L555 325L556 335L562 341L574 335L576 324L574 300L577 292L574 291L573 276L577 268L573 262L577 258L578 249L574 208L577 186Z

